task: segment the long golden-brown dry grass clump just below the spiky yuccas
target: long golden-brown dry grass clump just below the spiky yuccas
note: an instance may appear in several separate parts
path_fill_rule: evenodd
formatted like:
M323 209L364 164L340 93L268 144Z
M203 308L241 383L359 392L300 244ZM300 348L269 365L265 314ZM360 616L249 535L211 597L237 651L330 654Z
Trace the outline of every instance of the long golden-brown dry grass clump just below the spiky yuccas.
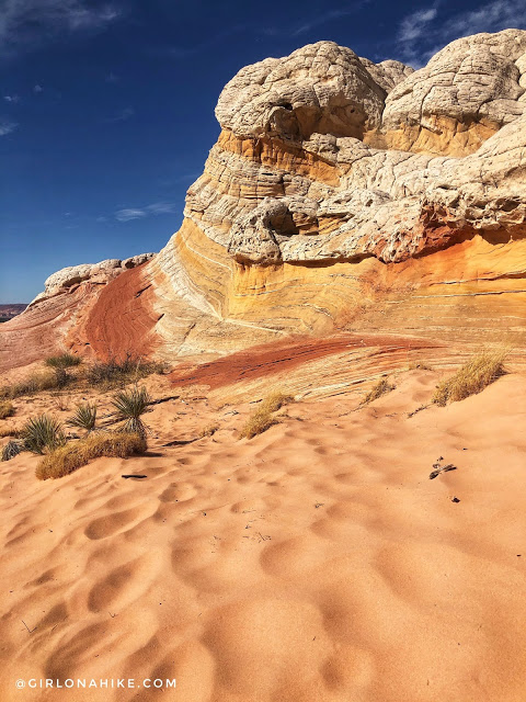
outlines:
M147 448L142 434L124 431L98 431L48 453L38 463L35 475L38 480L61 478L94 458L101 456L127 458L145 453Z

